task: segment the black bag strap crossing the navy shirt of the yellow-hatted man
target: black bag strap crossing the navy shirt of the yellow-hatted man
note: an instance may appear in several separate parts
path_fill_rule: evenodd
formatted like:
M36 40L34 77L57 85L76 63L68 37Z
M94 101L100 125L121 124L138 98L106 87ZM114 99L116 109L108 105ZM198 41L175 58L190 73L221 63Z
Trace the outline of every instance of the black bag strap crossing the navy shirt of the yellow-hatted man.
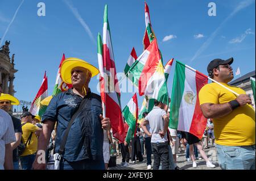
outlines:
M71 121L69 121L69 123L68 123L68 128L65 131L63 140L61 141L61 144L60 144L60 149L58 150L58 153L61 154L61 155L64 153L64 148L65 148L65 144L67 142L69 130L70 130L73 122L75 121L76 116L82 110L82 107L84 107L85 101L86 101L86 98L84 98L82 100L82 102L81 102L81 104L79 106L79 109L75 112L75 114L73 114L73 116L71 117Z

